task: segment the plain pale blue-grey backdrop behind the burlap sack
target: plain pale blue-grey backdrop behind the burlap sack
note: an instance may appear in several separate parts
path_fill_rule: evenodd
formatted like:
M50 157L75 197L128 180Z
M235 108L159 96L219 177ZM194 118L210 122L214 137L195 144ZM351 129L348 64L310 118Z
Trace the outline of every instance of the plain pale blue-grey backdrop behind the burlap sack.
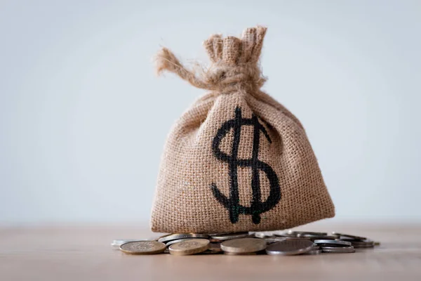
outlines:
M304 124L338 221L421 221L421 1L0 1L0 223L146 222L204 92L168 46L269 27L264 89Z

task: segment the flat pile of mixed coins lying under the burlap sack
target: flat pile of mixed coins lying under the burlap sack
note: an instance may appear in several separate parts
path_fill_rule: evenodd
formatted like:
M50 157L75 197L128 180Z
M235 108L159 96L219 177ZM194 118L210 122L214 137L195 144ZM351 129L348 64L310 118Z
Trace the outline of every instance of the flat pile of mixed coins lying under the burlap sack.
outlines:
M226 254L293 256L298 254L354 253L356 248L373 248L380 242L344 233L307 231L265 233L180 233L152 240L114 240L112 247L126 254Z

